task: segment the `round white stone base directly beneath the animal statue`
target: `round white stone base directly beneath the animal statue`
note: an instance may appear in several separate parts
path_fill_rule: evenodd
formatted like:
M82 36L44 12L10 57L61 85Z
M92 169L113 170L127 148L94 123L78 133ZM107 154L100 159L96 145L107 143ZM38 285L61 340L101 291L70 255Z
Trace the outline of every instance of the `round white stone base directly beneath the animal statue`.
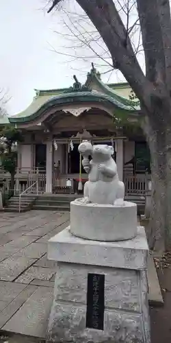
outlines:
M137 205L70 202L70 233L95 241L122 241L137 235Z

